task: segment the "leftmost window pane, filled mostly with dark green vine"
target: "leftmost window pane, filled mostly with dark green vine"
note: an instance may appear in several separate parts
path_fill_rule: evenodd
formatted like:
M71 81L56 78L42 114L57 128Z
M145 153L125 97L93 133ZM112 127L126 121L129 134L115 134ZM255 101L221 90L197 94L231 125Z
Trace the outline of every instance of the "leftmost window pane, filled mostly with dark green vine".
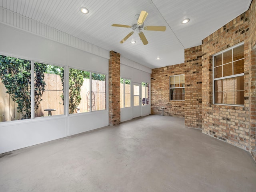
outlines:
M0 55L0 122L30 118L31 62Z

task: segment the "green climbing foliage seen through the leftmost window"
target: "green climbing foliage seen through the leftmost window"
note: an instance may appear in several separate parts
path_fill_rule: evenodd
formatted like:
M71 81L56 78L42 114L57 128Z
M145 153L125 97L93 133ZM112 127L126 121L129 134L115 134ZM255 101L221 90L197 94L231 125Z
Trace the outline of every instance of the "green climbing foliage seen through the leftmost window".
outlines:
M42 64L35 64L35 88L44 89ZM18 104L17 111L23 119L31 118L31 64L30 61L0 55L0 78L10 97ZM35 109L39 107L43 91L35 93Z

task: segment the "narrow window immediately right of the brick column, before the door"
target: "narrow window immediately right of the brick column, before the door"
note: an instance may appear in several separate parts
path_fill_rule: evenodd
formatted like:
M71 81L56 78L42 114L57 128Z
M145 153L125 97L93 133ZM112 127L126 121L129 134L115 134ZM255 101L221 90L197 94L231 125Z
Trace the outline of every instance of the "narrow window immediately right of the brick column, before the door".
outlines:
M120 78L120 108L131 106L131 80Z

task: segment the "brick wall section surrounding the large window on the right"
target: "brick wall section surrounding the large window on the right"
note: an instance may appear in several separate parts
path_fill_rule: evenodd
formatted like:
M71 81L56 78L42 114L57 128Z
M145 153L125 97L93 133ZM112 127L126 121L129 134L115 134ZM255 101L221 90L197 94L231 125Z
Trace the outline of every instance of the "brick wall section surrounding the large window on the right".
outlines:
M212 54L244 41L244 107L213 105ZM249 150L249 12L202 41L202 132Z

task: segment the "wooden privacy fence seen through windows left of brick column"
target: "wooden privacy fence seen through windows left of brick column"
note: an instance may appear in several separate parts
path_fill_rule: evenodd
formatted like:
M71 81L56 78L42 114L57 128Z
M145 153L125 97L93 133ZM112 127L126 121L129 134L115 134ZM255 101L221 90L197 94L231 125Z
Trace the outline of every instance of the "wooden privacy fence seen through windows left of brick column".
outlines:
M61 98L63 94L63 86L60 76L56 74L44 74L44 81L46 83L45 91L42 96L42 101L38 110L35 112L35 117L48 116L49 112L44 111L47 109L56 109L52 111L52 115L64 114L64 105ZM10 98L10 95L6 93L2 80L0 79L0 122L20 120L22 115L17 112L18 104ZM90 111L88 107L89 98L87 93L90 91L90 79L84 79L84 83L81 87L81 102L79 104L80 112ZM94 92L95 106L92 110L104 110L106 109L106 82L99 80L92 80L92 92Z

